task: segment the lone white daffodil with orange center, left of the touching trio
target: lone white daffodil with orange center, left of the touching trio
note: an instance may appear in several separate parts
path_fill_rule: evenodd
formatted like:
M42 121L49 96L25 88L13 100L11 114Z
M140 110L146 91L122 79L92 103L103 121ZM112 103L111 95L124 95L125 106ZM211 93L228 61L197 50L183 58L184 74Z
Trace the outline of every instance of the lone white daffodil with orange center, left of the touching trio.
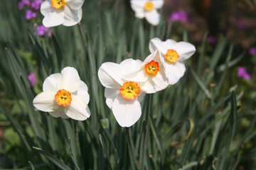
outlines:
M85 120L90 117L90 100L85 82L78 71L65 67L61 73L51 74L43 81L43 92L33 99L33 105L53 117Z

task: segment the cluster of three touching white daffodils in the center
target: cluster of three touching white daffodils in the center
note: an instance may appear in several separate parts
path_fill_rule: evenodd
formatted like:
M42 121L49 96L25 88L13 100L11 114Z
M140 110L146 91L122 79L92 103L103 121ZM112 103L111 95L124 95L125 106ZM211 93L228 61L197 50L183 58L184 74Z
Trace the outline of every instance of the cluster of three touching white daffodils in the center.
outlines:
M140 102L145 94L166 89L183 76L186 68L183 60L196 52L188 42L154 38L149 42L151 54L141 60L127 59L120 64L105 62L98 76L105 86L107 106L122 127L130 127L142 115Z

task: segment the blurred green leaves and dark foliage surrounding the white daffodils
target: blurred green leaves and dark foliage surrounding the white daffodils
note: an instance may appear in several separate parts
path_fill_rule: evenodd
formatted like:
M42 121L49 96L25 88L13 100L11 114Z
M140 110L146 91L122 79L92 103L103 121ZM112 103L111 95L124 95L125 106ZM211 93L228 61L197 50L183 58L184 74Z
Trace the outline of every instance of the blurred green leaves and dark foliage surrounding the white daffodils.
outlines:
M36 33L40 12L26 20L18 2L0 1L1 169L255 169L255 1L166 0L156 27L135 18L129 1L85 1L80 25L50 28L50 37ZM139 121L121 128L97 69L144 60L155 37L191 42L196 54L178 84L146 95ZM89 88L83 122L32 104L44 79L66 66Z

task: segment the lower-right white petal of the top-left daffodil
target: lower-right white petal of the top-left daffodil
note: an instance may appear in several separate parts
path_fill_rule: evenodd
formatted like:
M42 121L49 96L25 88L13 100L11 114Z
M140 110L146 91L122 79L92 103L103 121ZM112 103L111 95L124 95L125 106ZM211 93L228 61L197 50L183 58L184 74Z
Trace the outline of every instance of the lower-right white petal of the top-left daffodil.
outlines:
M64 6L64 22L63 26L75 26L82 18L82 8L71 9L68 6Z

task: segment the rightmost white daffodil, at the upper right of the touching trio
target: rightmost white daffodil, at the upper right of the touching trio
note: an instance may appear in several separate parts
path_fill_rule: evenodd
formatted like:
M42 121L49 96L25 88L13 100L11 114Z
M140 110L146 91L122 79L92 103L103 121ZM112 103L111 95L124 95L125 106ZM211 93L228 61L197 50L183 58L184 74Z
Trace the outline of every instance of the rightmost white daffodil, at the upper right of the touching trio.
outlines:
M196 52L196 47L189 42L161 41L159 38L153 38L149 42L149 50L161 52L161 56L165 58L169 84L176 84L186 71L183 60L191 57Z

